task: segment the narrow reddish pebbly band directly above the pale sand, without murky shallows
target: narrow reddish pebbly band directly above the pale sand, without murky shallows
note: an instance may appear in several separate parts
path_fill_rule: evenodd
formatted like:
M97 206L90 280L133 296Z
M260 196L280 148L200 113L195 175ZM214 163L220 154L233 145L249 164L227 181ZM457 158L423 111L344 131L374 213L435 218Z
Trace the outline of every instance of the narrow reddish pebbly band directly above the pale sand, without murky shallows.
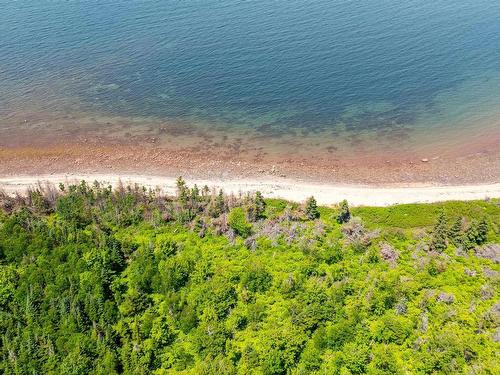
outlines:
M461 185L500 180L497 153L462 157L405 156L357 159L294 155L259 156L221 149L124 144L62 143L54 146L0 148L0 176L61 173L141 174L193 179L292 179L323 184Z

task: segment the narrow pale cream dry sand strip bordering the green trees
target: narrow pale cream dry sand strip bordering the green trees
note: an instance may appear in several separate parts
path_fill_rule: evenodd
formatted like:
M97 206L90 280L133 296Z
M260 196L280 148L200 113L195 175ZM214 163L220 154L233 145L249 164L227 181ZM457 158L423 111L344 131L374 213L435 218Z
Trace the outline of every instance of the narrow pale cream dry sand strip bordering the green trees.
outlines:
M86 180L99 181L116 186L139 184L147 188L160 188L163 192L175 192L176 177L138 174L40 174L0 177L0 190L6 193L22 193L38 183L75 183ZM325 184L304 183L292 179L196 179L185 178L188 185L207 185L223 189L226 193L261 191L266 198L282 198L303 202L314 196L319 204L331 205L347 199L353 206L390 206L405 203L433 203L450 200L479 200L500 198L500 182L473 185L435 184Z

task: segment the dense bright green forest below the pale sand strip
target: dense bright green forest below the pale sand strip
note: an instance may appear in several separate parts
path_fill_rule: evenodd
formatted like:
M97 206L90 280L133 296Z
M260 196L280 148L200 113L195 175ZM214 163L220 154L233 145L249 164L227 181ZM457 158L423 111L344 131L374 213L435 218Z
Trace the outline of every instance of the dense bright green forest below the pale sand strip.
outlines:
M0 193L0 373L499 374L500 201Z

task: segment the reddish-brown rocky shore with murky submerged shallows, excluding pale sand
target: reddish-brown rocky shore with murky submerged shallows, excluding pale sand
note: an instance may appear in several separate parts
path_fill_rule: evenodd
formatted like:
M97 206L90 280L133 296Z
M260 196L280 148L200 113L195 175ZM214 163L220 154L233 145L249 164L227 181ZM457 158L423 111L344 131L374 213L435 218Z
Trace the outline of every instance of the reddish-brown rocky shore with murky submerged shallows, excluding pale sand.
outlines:
M0 176L128 173L376 185L500 181L500 126L487 134L464 131L441 140L447 147L421 142L411 148L395 130L393 138L384 135L384 147L352 139L347 152L336 146L334 135L280 138L223 127L207 132L186 123L60 113L12 115L2 120L0 131Z

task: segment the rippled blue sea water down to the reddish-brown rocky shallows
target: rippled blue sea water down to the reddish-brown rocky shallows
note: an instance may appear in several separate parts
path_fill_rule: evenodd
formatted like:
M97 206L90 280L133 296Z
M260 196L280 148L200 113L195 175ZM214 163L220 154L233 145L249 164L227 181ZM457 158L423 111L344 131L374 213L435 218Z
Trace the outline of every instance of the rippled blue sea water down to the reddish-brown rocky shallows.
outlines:
M0 132L24 126L14 120L24 111L129 117L131 132L142 119L150 129L170 121L267 140L316 137L346 149L358 138L376 149L445 143L444 130L498 130L498 0L0 7Z

